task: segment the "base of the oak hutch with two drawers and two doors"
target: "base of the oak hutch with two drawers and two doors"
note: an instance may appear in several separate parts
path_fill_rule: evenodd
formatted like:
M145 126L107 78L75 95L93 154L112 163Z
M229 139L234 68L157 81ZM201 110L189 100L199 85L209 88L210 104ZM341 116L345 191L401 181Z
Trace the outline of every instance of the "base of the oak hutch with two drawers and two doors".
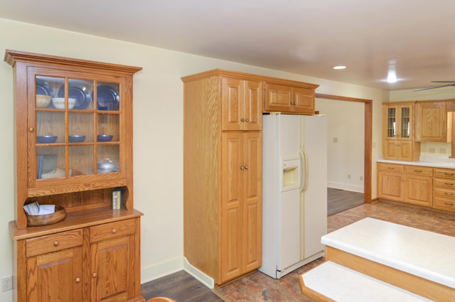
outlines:
M17 239L17 301L145 301L139 234L135 217Z

